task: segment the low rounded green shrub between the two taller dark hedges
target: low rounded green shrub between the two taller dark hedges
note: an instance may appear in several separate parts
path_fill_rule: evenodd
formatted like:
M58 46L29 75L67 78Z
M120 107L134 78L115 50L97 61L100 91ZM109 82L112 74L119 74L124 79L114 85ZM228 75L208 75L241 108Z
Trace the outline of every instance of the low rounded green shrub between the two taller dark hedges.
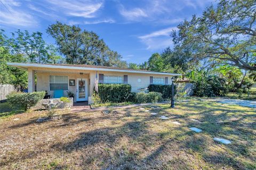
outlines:
M154 103L163 101L162 94L158 92L137 93L135 99L137 103Z

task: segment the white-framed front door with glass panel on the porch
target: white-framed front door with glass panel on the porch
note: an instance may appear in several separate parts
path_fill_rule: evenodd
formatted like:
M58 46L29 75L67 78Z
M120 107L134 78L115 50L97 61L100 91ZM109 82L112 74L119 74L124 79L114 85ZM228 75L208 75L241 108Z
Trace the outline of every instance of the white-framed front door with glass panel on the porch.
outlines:
M87 78L76 79L76 101L87 101L88 100L88 86Z

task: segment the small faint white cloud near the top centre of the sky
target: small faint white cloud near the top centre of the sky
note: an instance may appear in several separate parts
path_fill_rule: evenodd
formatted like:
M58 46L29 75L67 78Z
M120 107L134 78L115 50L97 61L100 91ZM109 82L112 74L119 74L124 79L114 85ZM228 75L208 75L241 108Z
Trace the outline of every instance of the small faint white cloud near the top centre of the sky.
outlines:
M121 8L119 9L119 12L121 15L123 15L123 17L125 17L128 20L137 20L140 18L148 17L145 11L140 8L126 10L124 6L121 6Z

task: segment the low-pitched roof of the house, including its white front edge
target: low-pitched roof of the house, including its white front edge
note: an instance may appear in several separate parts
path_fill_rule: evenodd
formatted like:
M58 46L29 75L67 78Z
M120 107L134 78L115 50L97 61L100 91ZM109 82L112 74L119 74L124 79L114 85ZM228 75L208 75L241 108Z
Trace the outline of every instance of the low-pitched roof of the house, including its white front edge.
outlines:
M181 74L174 74L174 73L170 73L170 72L135 70L135 69L129 69L129 68L94 66L94 65L87 65L87 64L37 64L37 63L14 63L14 62L8 62L7 64L9 66L13 66L13 67L21 68L21 69L28 69L28 68L31 68L31 67L37 67L37 68L132 72L132 73L142 73L142 74L158 74L158 75L181 76Z

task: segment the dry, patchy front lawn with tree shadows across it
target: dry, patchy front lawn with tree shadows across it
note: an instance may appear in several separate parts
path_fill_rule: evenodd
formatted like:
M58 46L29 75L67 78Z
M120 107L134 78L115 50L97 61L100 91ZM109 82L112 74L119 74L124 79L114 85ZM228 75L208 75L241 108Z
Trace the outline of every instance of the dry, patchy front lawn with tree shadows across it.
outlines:
M256 169L255 109L207 100L158 106L144 107L155 116L133 107L59 110L62 118L44 123L35 121L45 111L0 118L0 169Z

